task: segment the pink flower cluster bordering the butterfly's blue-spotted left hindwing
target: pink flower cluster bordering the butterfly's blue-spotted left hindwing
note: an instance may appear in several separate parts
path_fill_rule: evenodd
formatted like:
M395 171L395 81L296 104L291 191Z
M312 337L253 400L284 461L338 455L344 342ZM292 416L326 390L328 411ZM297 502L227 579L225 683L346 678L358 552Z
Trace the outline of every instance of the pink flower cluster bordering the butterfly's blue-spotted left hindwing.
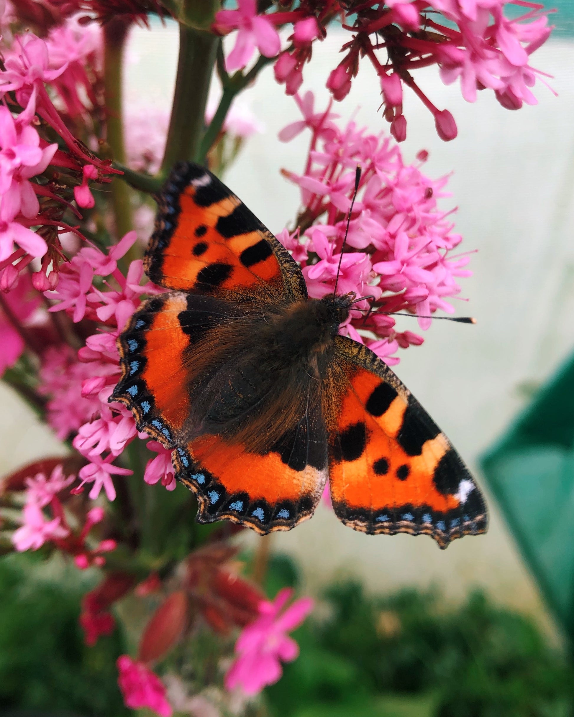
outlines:
M91 318L102 328L88 336L77 359L67 348L54 348L44 355L40 371L40 390L47 395L48 421L60 437L76 432L72 445L88 464L80 469L82 481L76 491L92 483L90 498L102 488L108 500L116 498L113 475L129 475L131 470L113 464L123 449L138 436L136 423L122 404L108 403L120 375L116 339L128 318L141 302L142 294L158 293L151 282L141 285L144 267L141 260L131 262L126 276L118 269L118 260L136 241L136 232L128 232L108 254L85 247L62 268L60 283L47 297L57 300L50 311L65 310L76 323ZM100 277L108 277L108 290L96 288ZM139 435L146 439L146 434ZM160 481L168 490L175 488L171 454L155 441L149 448L156 452L144 473L146 483Z

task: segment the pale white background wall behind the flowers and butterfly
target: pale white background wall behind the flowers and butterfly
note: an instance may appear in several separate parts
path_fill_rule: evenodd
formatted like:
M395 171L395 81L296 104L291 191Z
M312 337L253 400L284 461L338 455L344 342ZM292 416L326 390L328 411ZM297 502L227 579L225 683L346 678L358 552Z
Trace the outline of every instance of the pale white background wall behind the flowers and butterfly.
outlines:
M331 32L304 74L304 90L314 90L321 106L340 44L339 34ZM138 111L169 107L176 59L174 27L134 29L126 68L128 105ZM478 323L435 322L423 346L400 353L395 370L475 470L481 451L524 405L524 388L543 381L574 347L574 44L549 42L534 62L555 76L551 84L560 96L540 84L540 104L519 112L501 108L490 92L469 105L458 86L445 87L432 69L421 72L423 90L456 117L459 134L451 143L438 139L418 100L408 92L405 98L405 158L413 160L425 148L431 153L428 174L453 171L453 199L445 206L458 204L464 247L479 250L471 262L474 276L463 284L469 303L457 302L458 313L470 313ZM298 118L298 110L270 68L244 98L266 130L245 146L226 181L277 232L292 222L299 201L279 169L301 171L308 138L278 142L278 130ZM349 118L358 107L360 123L386 130L379 104L377 79L364 63L351 94L335 110ZM403 322L416 330L410 319ZM0 402L1 472L62 450L4 386ZM295 531L273 536L273 545L297 556L311 590L342 574L359 574L377 590L438 584L453 599L482 586L500 601L545 619L512 538L491 501L490 506L489 533L456 541L446 552L430 538L355 533L326 508Z

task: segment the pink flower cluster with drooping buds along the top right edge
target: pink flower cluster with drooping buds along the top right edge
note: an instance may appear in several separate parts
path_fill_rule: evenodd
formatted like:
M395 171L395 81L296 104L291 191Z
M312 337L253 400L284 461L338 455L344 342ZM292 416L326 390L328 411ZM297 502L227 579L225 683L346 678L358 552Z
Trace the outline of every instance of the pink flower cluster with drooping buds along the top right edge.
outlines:
M303 67L312 46L324 39L329 21L339 17L349 32L342 45L344 58L332 70L326 86L335 100L349 94L359 62L368 58L380 79L385 118L397 141L406 137L403 86L418 95L435 118L443 140L456 137L456 123L448 110L439 110L413 80L420 67L437 65L446 84L461 78L463 96L476 100L476 90L494 90L507 109L535 104L530 87L542 72L530 65L530 55L550 36L552 27L542 5L527 0L386 0L378 4L351 4L341 0L288 0L281 9L258 13L255 0L238 0L235 10L221 10L214 29L220 34L237 30L235 47L227 56L227 70L245 67L255 47L265 57L276 57L277 82L288 95L303 83ZM524 9L509 18L506 5ZM441 17L442 15L442 17ZM349 24L351 23L351 24ZM281 52L277 27L293 25L291 44ZM382 54L382 56L381 56Z

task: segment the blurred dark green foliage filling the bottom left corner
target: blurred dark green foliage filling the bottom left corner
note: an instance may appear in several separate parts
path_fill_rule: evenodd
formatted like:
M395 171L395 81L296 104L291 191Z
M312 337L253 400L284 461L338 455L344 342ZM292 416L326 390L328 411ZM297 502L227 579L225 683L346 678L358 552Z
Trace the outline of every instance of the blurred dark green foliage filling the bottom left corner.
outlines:
M0 714L123 717L116 631L86 647L80 600L99 576L34 554L0 560Z

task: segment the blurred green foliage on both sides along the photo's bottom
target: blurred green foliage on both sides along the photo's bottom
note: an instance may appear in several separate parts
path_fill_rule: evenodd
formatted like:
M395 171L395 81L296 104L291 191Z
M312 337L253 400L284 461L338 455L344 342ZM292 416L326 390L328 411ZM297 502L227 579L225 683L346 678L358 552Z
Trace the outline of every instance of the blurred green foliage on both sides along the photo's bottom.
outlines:
M121 636L85 647L81 596L98 581L58 561L0 559L0 716L123 717ZM296 565L270 561L273 596ZM461 606L413 590L333 585L294 637L298 659L265 690L270 717L572 717L574 670L527 617L483 594ZM22 711L22 712L20 712Z

